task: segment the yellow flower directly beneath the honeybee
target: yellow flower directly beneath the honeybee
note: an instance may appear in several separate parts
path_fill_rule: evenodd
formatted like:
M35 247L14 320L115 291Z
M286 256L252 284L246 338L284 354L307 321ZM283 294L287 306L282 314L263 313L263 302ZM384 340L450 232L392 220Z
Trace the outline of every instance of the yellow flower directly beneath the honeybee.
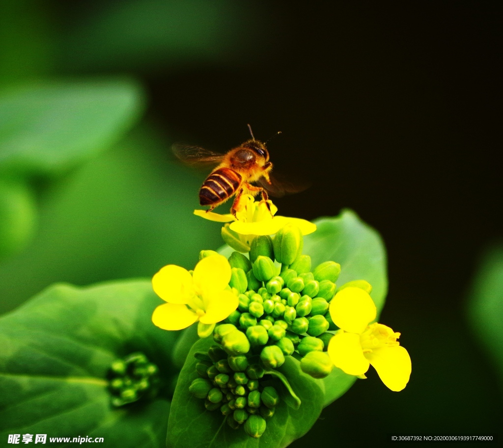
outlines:
M256 201L250 194L243 194L237 206L236 217L232 214L218 214L206 210L194 210L194 214L210 221L231 222L230 230L240 235L274 235L288 222L295 224L302 235L309 235L316 230L316 225L312 222L300 218L290 218L287 216L275 216L278 207L271 200ZM253 240L253 238L251 238Z

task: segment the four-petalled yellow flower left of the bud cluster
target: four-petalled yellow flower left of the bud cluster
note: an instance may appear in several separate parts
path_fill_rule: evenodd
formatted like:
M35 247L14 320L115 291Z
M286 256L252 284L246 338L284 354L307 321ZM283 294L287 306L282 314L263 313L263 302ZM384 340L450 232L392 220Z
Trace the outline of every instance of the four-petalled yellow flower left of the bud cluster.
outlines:
M165 330L180 330L198 320L214 324L227 318L239 304L228 287L230 273L222 255L203 258L193 275L180 266L164 266L153 276L152 287L167 303L155 308L152 322Z

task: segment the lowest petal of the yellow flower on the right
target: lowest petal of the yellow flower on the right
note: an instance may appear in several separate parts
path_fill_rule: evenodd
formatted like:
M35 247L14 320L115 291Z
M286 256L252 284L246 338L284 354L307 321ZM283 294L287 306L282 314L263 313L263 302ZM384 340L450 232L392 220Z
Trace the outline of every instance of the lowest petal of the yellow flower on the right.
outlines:
M408 352L402 346L379 347L372 353L366 353L365 358L377 370L385 386L392 391L399 392L408 383L412 364Z

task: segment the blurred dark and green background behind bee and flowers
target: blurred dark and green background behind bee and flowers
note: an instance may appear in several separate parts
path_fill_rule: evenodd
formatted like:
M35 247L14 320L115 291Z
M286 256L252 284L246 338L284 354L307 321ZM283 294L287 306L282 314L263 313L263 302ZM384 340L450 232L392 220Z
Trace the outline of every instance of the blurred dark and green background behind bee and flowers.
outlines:
M250 123L262 140L282 131L273 162L312 182L281 214L351 207L381 232L381 320L413 363L404 391L369 372L292 446L497 432L503 255L483 255L503 237L496 4L1 4L0 311L217 248L219 225L191 214L205 173L170 146L226 151Z

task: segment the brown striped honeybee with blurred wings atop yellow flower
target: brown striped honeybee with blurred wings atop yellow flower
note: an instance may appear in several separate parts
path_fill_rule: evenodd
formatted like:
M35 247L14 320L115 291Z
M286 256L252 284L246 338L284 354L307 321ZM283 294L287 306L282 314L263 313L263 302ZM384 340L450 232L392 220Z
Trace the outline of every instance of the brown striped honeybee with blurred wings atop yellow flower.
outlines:
M236 195L230 212L235 216L242 194L262 195L262 200L285 193L295 193L307 188L305 185L279 181L272 174L273 164L269 160L266 143L256 140L248 125L251 139L225 154L208 151L198 146L173 145L175 155L187 165L218 164L209 174L199 190L199 203L213 210ZM278 133L280 134L280 133ZM258 183L260 186L252 185Z

